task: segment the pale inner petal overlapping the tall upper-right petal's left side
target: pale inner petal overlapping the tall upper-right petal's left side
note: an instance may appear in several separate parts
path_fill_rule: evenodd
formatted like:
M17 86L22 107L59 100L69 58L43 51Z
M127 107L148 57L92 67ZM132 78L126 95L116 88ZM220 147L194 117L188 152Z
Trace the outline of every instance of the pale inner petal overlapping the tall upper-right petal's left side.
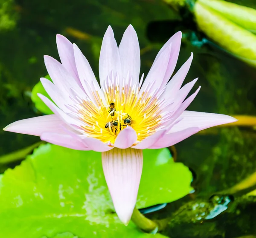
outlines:
M145 88L154 82L151 87L152 90L159 89L164 75L166 74L166 69L168 66L169 58L170 58L171 46L166 48L158 57L156 62L152 65L150 71L148 72L147 77L140 89L140 92L145 91Z

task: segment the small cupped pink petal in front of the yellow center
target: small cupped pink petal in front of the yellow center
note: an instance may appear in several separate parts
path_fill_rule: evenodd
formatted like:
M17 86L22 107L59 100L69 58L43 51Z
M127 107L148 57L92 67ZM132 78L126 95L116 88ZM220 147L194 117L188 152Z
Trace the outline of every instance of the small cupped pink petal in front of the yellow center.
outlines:
M131 147L137 141L137 133L131 126L127 126L116 137L115 147L126 149Z

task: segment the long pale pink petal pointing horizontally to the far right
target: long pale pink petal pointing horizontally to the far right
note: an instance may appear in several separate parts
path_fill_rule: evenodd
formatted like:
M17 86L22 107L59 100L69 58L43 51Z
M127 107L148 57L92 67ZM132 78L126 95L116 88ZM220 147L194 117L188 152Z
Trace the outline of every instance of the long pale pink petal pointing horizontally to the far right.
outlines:
M207 112L184 111L181 115L182 120L175 124L169 133L181 131L190 127L197 126L199 130L204 130L212 126L218 126L237 121L236 118Z

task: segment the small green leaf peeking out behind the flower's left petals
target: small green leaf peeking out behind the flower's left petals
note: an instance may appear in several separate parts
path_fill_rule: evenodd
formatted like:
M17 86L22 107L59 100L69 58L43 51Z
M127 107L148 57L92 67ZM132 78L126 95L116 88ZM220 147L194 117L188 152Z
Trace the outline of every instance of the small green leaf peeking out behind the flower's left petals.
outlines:
M51 80L50 76L47 75L45 76L45 78ZM51 80L52 81L52 80ZM36 109L38 109L40 112L43 112L44 114L53 114L52 110L49 109L48 106L46 106L44 104L44 102L38 97L38 93L41 93L42 95L48 97L50 100L50 96L48 95L48 93L45 91L41 81L39 81L32 89L31 92L31 100L33 101L33 103L35 103L35 107Z

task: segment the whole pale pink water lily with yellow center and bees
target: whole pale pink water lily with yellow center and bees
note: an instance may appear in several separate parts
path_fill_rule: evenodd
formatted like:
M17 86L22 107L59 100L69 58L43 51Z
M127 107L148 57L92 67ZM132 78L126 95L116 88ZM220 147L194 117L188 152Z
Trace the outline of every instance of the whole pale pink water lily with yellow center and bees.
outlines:
M134 28L128 26L118 47L109 26L100 52L99 86L78 46L58 34L61 63L44 56L53 83L41 78L54 103L38 94L54 114L19 120L4 130L40 136L71 149L102 152L113 205L119 219L128 224L137 199L143 149L172 146L200 130L236 121L227 115L185 111L200 87L187 99L197 79L181 87L193 54L169 81L180 42L181 32L177 32L157 54L143 82Z

